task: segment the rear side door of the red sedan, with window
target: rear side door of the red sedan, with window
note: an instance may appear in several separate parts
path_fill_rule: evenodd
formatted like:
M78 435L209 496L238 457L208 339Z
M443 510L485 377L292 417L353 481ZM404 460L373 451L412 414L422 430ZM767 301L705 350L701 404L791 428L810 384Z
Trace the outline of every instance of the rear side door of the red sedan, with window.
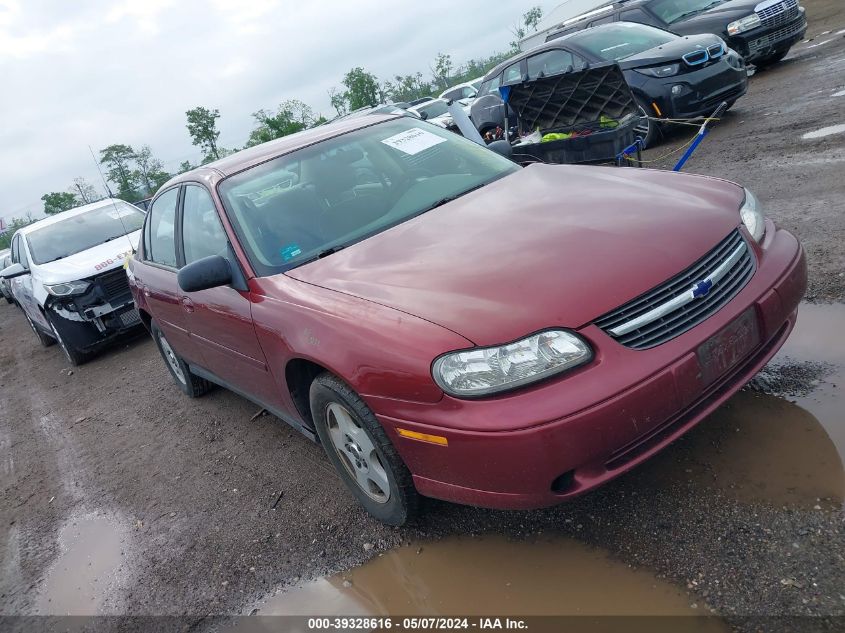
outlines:
M144 259L133 266L133 274L153 320L171 347L189 362L196 363L199 354L188 336L176 282L176 209L181 190L179 186L173 187L153 201L144 224Z

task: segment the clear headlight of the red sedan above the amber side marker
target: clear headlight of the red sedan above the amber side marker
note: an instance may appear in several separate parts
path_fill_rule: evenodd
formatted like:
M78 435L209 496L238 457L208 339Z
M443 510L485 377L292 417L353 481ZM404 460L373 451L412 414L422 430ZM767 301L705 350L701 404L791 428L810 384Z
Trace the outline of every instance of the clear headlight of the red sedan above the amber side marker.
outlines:
M444 354L434 361L432 374L446 393L472 398L537 382L592 357L575 334L546 330L507 345Z

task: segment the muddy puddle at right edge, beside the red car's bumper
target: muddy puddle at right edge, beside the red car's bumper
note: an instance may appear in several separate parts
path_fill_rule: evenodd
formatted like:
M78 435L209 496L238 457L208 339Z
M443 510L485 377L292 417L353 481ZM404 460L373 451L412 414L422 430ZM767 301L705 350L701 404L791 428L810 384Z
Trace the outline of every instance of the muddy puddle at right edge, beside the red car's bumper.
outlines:
M634 476L652 489L693 482L702 495L715 489L741 502L842 507L843 325L845 305L802 305L795 330L765 373L775 378L775 390L804 395L741 391Z

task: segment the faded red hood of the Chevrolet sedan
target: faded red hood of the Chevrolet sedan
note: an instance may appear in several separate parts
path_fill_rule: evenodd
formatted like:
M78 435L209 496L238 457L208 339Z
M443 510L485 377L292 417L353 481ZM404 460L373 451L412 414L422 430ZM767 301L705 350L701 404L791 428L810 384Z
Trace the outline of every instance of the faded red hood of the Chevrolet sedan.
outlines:
M286 274L494 345L666 281L736 228L742 200L713 178L532 165Z

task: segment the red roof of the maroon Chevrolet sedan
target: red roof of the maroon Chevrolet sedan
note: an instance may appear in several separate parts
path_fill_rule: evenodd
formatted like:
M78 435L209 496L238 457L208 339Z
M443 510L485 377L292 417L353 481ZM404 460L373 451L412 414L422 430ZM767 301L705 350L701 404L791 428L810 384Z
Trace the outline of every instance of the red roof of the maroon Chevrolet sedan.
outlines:
M239 152L230 154L224 158L215 160L202 167L174 176L164 183L159 191L172 187L180 182L206 181L211 185L222 180L226 176L249 169L283 154L289 154L303 147L315 145L322 141L341 136L348 132L354 132L371 125L383 123L392 119L401 118L400 114L369 114L334 123L326 123L318 127L289 134L261 145L248 147Z

